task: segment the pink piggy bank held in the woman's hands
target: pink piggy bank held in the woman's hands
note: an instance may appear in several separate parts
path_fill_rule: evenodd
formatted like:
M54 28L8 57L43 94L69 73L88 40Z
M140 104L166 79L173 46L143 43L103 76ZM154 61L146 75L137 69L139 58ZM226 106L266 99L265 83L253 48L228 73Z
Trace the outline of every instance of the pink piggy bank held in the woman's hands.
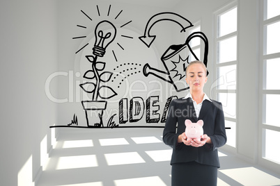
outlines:
M201 140L201 135L203 135L203 121L201 119L197 121L197 123L192 123L191 120L186 119L185 126L185 134L187 137L197 139L199 141Z

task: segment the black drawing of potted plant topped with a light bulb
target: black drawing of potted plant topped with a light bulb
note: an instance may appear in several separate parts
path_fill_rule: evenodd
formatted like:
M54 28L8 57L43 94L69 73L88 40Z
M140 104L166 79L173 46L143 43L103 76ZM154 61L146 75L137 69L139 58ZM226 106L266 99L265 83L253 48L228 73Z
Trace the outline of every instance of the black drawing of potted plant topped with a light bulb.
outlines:
M104 20L95 27L93 55L86 56L87 60L91 62L91 69L86 71L83 76L88 81L79 85L82 90L92 94L91 100L81 101L86 113L88 127L104 127L102 116L107 108L106 99L111 99L117 95L111 87L102 85L102 83L107 83L110 80L113 72L103 71L106 62L98 61L98 57L102 58L104 56L107 46L113 42L115 37L116 27L111 22ZM90 120L92 112L98 112L99 123Z

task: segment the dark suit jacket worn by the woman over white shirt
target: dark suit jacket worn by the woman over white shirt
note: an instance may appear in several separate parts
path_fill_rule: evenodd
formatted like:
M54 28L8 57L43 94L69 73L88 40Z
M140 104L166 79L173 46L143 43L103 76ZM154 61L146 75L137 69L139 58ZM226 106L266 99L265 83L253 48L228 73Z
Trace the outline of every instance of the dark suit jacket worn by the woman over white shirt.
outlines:
M196 117L191 98L175 99L171 102L163 132L164 143L173 148L171 164L196 161L220 167L217 148L226 144L224 112L221 103L211 101L207 99L203 101L199 118ZM186 119L193 123L202 119L204 122L203 133L211 138L212 144L205 144L201 147L178 144L178 136L185 132Z

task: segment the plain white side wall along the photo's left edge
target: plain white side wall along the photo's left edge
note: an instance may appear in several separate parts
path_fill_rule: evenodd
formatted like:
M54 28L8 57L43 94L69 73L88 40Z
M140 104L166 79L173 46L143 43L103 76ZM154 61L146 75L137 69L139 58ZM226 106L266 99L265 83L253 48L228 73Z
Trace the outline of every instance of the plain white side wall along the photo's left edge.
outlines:
M45 81L57 71L56 10L56 1L1 1L0 185L17 185L19 173L27 175L20 178L23 183L32 183L41 169L40 142L46 135L45 148L50 148L49 126L57 116Z

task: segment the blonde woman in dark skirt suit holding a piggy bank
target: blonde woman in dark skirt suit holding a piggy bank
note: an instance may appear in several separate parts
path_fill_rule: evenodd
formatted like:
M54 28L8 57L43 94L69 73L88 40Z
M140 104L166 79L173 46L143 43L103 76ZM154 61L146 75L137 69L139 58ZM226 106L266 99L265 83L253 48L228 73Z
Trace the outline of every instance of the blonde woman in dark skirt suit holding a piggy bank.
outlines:
M185 98L173 100L169 107L163 141L173 148L172 186L217 185L220 167L217 149L226 144L226 130L221 103L209 99L203 92L206 73L203 62L190 62L186 69L189 93ZM203 120L201 141L186 136L186 119L193 123Z

